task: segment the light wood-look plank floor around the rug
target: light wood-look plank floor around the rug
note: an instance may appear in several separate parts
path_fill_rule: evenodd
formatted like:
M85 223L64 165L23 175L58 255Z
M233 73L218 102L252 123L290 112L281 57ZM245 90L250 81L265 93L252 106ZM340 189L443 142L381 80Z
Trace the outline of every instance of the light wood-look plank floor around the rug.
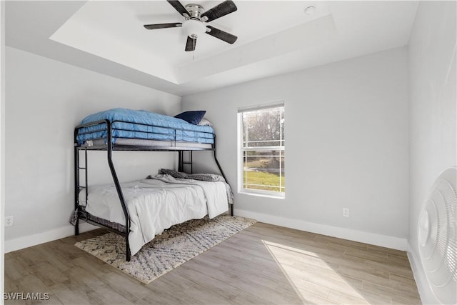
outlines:
M74 246L104 232L6 254L5 291L46 304L421 304L402 251L257 223L145 285Z

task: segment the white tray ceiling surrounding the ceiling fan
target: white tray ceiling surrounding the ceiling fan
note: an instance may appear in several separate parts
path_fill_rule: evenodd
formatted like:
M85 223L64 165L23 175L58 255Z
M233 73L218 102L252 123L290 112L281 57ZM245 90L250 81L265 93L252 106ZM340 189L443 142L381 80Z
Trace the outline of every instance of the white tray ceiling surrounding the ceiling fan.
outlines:
M6 1L6 45L177 95L328 64L408 44L416 1L242 1L186 52L164 1ZM197 3L205 9L221 1ZM316 6L308 16L306 6ZM6 59L7 60L7 59Z

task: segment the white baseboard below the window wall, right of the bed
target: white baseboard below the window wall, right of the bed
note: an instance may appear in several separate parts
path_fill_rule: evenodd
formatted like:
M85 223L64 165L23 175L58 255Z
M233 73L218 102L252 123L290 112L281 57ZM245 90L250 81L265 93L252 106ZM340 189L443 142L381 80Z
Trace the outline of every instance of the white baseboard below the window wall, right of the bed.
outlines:
M398 237L368 233L353 229L339 228L338 226L328 226L326 224L316 224L313 222L298 219L288 219L240 209L234 209L233 214L236 216L256 219L257 221L265 222L266 224L276 224L277 226L285 226L286 228L338 237L339 239L359 241L365 244L383 246L390 249L397 249L401 251L408 250L408 241Z

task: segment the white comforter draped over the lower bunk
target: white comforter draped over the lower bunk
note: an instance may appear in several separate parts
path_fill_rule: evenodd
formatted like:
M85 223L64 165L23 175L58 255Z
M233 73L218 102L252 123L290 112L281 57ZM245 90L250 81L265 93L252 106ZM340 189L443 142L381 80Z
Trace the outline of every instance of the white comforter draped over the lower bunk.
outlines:
M158 175L154 179L132 181L121 185L130 215L129 243L131 254L174 224L213 218L228 211L223 182L174 179ZM84 204L81 192L80 202ZM114 185L89 186L86 211L109 221L125 224L124 212Z

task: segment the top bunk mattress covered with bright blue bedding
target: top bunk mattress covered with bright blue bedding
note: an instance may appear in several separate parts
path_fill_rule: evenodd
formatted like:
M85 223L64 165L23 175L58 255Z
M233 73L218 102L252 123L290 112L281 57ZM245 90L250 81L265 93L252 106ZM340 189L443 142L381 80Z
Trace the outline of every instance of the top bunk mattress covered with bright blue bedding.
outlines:
M109 120L111 122L111 142L118 139L146 139L159 141L184 141L214 144L214 129L211 126L190 124L182 119L146 110L109 109L86 116L81 124ZM108 138L105 122L78 129L78 144L95 139Z

